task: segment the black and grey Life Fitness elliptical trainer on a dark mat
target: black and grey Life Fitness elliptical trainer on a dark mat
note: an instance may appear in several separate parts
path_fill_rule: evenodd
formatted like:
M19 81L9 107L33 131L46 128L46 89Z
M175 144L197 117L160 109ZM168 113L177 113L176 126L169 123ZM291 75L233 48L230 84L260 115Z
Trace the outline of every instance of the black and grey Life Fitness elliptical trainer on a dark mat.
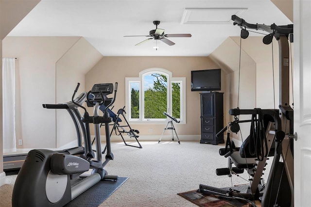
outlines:
M96 137L96 159L93 153L85 152L84 156L78 157L69 154L58 153L52 150L31 150L22 165L13 188L13 207L61 207L79 196L81 193L100 182L101 180L117 180L118 176L107 175L104 166L113 160L110 146L109 123L112 121L107 110L104 116L99 116L99 107L105 102L108 109L115 101L118 83L115 90L112 83L95 84L87 93L87 104L94 108L94 116L89 116L86 108L76 103L73 98L78 91L79 83L72 96L72 102L83 108L85 113L82 117L86 129L85 149L89 149L91 143L89 124L94 124ZM113 98L106 96L112 94ZM93 95L93 99L89 95ZM105 125L107 154L102 162L100 125ZM91 175L82 175L92 169Z

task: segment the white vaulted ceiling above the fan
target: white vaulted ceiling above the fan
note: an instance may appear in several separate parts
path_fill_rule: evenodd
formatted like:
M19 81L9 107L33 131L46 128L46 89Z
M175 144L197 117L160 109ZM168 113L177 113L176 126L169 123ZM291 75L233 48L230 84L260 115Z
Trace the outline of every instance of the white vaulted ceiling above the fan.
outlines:
M41 0L8 36L83 36L104 56L207 56L240 35L232 15L254 24L292 23L270 0ZM150 37L123 37L149 35L154 20L165 34L192 37L167 38L173 46L154 39L135 46Z

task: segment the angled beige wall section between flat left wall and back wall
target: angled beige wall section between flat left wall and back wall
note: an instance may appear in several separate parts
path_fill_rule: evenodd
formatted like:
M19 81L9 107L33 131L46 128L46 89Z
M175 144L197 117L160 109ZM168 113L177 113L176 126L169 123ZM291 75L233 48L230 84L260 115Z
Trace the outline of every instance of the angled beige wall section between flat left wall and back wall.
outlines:
M80 83L76 94L85 91L85 75L103 55L81 37L56 62L56 103L71 101L73 91ZM84 111L81 111L84 112ZM56 110L56 147L77 140L75 127L66 110Z

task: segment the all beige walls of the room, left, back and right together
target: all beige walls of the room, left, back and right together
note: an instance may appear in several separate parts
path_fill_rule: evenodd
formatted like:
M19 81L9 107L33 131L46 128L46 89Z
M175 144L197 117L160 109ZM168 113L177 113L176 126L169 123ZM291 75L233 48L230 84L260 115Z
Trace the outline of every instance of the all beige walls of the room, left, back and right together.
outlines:
M272 76L271 46L263 45L261 38L242 40L240 108L273 108L273 83L268 80ZM17 140L23 139L23 146L17 147L59 148L75 140L75 129L67 111L46 110L41 104L69 101L77 82L81 83L78 93L90 90L94 83L119 82L114 108L117 111L125 105L125 77L138 77L141 70L153 67L167 69L173 72L173 77L186 77L187 124L175 126L180 135L199 135L201 131L200 95L190 91L190 71L221 67L227 123L233 119L228 110L237 107L239 44L239 37L227 38L209 57L102 58L80 37L7 37L3 40L3 56L18 58ZM278 47L275 42L274 46L278 97ZM92 69L88 71L89 68ZM132 127L140 130L140 135L160 135L164 125L141 124ZM246 134L248 130L246 126ZM44 139L42 134L45 134Z

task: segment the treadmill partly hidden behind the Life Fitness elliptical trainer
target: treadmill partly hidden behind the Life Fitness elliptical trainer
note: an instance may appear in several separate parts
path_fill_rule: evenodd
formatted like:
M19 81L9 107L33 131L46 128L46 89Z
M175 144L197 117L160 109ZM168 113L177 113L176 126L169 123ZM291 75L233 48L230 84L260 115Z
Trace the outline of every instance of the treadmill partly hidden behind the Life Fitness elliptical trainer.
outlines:
M74 102L82 105L86 100L86 92L81 93L77 96ZM82 146L82 135L81 131L83 132L84 142L87 142L86 139L86 129L81 121L81 114L78 111L78 106L75 105L72 101L66 102L64 104L43 104L43 108L46 109L66 109L72 118L74 126L76 128L77 133L77 147L65 149L62 151L57 151L59 153L69 154L69 155L87 155L88 153L92 153L94 157L94 152L92 149L85 149ZM88 144L88 146L91 146ZM5 171L6 175L13 175L17 174L20 170L22 164L24 163L27 157L26 154L16 154L16 155L4 155L3 156L3 171Z

